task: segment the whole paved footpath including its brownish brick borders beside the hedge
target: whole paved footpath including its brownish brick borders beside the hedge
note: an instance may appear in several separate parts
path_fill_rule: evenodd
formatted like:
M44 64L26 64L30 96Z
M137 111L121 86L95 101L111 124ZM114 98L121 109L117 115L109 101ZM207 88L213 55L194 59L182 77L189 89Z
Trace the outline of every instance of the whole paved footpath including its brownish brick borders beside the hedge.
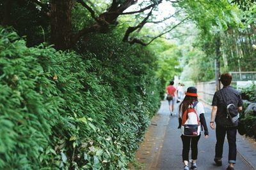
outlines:
M176 113L177 110L178 104L175 105ZM211 109L207 105L205 105L205 112L206 122L209 122ZM178 124L178 115L171 117L168 110L168 102L162 101L161 108L152 118L152 123L145 134L145 139L136 153L138 161L144 164L143 169L183 169L182 141L180 139L180 130L177 129ZM202 135L198 143L197 169L225 170L228 166L227 139L223 148L223 166L215 166L213 161L216 143L215 131L209 127L209 124L207 126L209 138L205 139L204 135ZM248 139L239 134L237 134L237 163L235 169L256 170L256 142L248 141Z

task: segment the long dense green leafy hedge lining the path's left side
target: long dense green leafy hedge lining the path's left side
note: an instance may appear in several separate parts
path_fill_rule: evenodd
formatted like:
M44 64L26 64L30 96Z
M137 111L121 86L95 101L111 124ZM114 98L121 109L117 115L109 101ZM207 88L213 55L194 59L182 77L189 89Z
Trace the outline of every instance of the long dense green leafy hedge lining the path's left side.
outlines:
M159 107L153 60L134 48L102 62L0 27L0 169L126 169Z

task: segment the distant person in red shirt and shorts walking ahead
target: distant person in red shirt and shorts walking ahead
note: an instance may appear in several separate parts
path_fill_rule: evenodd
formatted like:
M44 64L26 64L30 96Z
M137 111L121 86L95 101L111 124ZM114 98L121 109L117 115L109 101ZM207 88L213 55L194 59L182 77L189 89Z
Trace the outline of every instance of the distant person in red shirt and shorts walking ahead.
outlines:
M168 100L168 103L169 103L171 116L174 110L175 97L177 96L177 89L173 86L173 84L174 84L174 81L170 81L170 85L166 87L166 94L170 96L170 97L166 97L166 99Z

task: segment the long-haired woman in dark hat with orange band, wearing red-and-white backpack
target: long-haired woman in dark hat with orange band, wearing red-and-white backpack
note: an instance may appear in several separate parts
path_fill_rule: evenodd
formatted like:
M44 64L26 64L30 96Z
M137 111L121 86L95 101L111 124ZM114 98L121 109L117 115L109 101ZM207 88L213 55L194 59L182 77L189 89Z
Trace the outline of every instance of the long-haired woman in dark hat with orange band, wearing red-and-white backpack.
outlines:
M182 135L180 136L180 138L182 139L182 144L183 144L183 148L182 148L182 161L184 163L184 170L189 170L188 167L188 162L189 162L189 149L191 148L191 159L192 159L192 164L191 164L191 169L196 169L196 159L197 159L197 155L198 155L198 140L200 139L200 131L201 126L204 127L204 136L205 138L208 138L208 129L207 129L207 125L205 122L205 117L204 117L204 106L202 103L198 102L197 99L197 94L196 94L197 90L195 87L189 87L187 92L185 93L185 98L182 101L182 103L180 103L179 106L179 129L181 128L182 131ZM194 113L188 113L188 111L195 111ZM194 108L194 109L193 109ZM196 114L195 114L196 113ZM193 114L193 115L189 115L189 114ZM195 121L196 124L196 131L195 133L193 132L193 136L188 136L188 134L186 134L186 127L185 124L188 122L188 120L186 120L186 122L184 121L184 118L188 118L193 116L193 120L191 118L190 122ZM196 116L196 117L195 117Z

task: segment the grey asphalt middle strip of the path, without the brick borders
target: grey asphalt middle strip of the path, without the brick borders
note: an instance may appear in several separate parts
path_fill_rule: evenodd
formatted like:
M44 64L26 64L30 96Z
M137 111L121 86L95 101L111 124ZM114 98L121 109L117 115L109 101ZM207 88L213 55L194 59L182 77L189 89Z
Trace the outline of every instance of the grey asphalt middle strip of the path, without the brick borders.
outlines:
M159 150L159 155L154 166L147 167L145 169L163 169L163 170L176 170L183 169L184 164L182 163L182 141L180 139L180 129L177 129L178 123L178 104L175 105L175 113L172 117L169 115L168 103L167 101L162 102L161 109L159 110L160 115L165 118L170 118L166 124L165 134L163 137L163 143L161 150ZM216 166L214 163L214 150L216 144L215 131L209 127L211 117L210 108L205 107L205 119L207 122L207 127L209 130L209 137L204 138L204 132L201 134L201 138L198 142L198 160L196 161L197 169L202 170L225 170L228 166L228 143L225 139L223 148L223 165L221 167ZM189 157L191 152L189 153ZM189 167L191 163L189 163ZM237 152L237 162L235 164L235 169L247 170L253 169L252 165L248 164L244 159L243 155Z

